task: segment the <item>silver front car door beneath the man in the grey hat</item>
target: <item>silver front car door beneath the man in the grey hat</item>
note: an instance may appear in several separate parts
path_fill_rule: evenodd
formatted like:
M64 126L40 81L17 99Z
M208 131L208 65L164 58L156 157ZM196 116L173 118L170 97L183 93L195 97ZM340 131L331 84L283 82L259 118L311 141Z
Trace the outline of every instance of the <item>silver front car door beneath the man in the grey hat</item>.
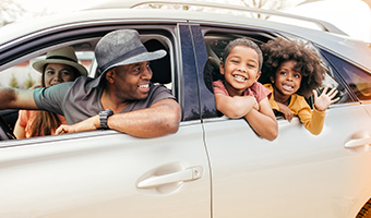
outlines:
M73 38L65 29L58 34ZM93 27L88 32L95 35ZM171 66L183 109L179 131L157 138L97 130L2 141L0 217L211 217L190 32L187 25L173 25L171 34L172 60L183 60ZM53 43L65 44L63 39Z

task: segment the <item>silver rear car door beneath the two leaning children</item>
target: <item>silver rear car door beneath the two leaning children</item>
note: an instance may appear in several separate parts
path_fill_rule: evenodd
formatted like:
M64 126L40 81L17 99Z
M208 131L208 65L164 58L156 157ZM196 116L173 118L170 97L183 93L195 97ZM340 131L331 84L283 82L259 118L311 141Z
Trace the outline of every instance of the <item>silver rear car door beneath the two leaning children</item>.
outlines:
M344 98L352 95L348 92L342 90ZM202 99L208 111L211 99ZM354 98L332 106L318 136L298 118L279 119L273 142L258 136L243 119L203 119L213 217L355 217L371 193L369 108Z

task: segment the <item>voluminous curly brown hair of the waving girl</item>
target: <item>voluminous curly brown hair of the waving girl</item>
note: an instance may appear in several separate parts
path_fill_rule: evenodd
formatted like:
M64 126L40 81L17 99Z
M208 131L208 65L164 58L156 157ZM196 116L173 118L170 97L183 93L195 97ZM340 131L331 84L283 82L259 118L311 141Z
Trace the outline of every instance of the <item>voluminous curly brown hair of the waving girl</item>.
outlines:
M308 43L276 37L263 44L261 49L265 60L262 69L263 83L271 83L268 78L275 76L282 62L295 60L297 61L295 71L300 72L302 76L300 88L297 92L299 95L309 97L313 89L322 86L326 70L315 49Z

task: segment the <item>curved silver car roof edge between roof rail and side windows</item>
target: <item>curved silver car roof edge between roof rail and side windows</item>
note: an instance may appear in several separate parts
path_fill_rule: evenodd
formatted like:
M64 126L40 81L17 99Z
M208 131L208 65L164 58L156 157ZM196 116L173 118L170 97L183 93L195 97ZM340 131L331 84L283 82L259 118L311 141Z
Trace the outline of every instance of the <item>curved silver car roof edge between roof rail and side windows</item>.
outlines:
M109 13L107 13L109 12ZM3 44L8 41L12 41L11 44L20 44L22 43L22 38L14 38L15 36L26 34L29 38L32 38L33 34L40 34L44 29L50 28L61 28L65 24L69 26L74 26L79 28L81 23L106 23L107 25L112 25L115 23L120 23L122 21L137 21L137 23L147 23L147 24L158 24L166 22L181 22L189 21L192 23L207 23L215 25L232 25L232 26L251 26L251 27L262 27L265 26L272 31L279 31L287 34L294 34L296 36L301 36L311 41L324 46L325 48L336 51L337 55L343 56L347 60L357 60L357 63L371 70L371 63L369 59L360 53L371 55L371 49L369 49L364 41L355 40L349 38L348 36L338 35L338 34L319 34L321 31L316 29L308 29L304 27L276 23L272 21L256 20L252 17L239 17L235 19L234 15L228 14L216 14L216 13L205 13L205 12L194 12L194 11L167 11L164 13L164 10L146 10L146 9L112 9L112 10L87 10L81 11L77 13L68 13L65 15L56 15L50 16L46 21L45 19L37 19L34 21L34 24L29 23L20 23L16 25L9 25L3 27L0 33L0 52L3 47ZM342 44L342 47L338 46ZM355 49L357 48L357 49ZM351 51L357 52L351 52Z

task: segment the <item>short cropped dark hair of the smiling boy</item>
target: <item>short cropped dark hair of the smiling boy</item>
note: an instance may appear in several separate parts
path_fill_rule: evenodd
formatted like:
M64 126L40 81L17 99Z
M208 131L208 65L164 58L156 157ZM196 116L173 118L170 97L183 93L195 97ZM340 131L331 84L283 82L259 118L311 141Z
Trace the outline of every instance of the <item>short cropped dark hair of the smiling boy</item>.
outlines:
M262 70L262 64L263 64L263 53L262 53L262 50L260 50L259 46L254 41L252 41L251 39L249 39L247 37L236 38L235 40L229 41L229 44L224 49L223 64L226 63L227 57L229 56L230 51L236 46L247 46L247 47L252 48L253 50L255 50L258 56L259 56L259 71Z

